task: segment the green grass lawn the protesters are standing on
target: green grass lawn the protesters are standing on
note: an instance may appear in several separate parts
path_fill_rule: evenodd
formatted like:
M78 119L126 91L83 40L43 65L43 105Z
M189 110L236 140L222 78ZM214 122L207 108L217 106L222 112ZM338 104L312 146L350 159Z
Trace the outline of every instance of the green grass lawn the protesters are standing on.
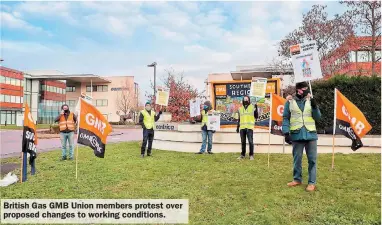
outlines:
M266 154L238 161L231 153L154 150L142 159L137 142L109 144L104 159L80 148L77 181L75 161L60 154L40 154L36 176L1 188L1 198L185 198L190 224L381 224L379 154L337 154L334 171L331 155L320 154L314 193L286 187L291 155L272 154L268 169ZM306 182L306 158L303 170Z

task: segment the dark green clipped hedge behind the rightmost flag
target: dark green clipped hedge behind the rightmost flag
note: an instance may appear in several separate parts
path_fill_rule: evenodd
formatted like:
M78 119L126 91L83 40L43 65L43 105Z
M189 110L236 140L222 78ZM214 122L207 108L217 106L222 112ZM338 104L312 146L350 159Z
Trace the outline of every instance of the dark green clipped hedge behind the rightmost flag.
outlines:
M312 82L322 118L316 121L319 133L331 133L333 129L334 88L337 88L365 115L373 127L368 134L381 134L381 77L337 75L328 80ZM285 92L291 92L287 90ZM294 92L294 91L293 91Z

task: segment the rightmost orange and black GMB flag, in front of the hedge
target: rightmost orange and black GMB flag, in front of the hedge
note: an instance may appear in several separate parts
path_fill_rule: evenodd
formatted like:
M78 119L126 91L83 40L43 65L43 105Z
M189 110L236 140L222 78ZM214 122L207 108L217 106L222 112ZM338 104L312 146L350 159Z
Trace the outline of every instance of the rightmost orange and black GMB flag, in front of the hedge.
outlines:
M356 151L363 146L361 138L370 130L371 125L363 113L337 89L335 91L335 134L345 135L352 140L351 149Z

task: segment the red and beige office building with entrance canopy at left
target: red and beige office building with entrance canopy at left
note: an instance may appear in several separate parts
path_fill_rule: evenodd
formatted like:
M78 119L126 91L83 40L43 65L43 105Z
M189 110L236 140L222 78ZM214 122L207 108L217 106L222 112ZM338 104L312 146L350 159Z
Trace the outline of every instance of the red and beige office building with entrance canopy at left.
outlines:
M139 86L133 76L101 77L52 70L21 72L6 67L0 67L0 73L2 125L22 124L24 102L37 123L51 124L63 104L74 111L82 93L92 97L92 104L109 122L137 117Z

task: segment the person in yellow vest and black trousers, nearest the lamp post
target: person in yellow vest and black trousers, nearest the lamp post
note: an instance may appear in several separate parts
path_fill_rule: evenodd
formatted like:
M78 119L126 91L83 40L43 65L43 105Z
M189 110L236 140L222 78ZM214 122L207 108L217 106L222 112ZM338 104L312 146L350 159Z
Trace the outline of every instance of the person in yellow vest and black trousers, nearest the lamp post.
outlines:
M145 157L146 145L149 142L147 147L147 156L151 156L151 148L154 140L154 123L159 120L162 111L159 111L155 115L155 111L151 109L151 103L146 102L145 109L142 110L139 114L139 124L143 128L143 141L141 146L141 157Z

